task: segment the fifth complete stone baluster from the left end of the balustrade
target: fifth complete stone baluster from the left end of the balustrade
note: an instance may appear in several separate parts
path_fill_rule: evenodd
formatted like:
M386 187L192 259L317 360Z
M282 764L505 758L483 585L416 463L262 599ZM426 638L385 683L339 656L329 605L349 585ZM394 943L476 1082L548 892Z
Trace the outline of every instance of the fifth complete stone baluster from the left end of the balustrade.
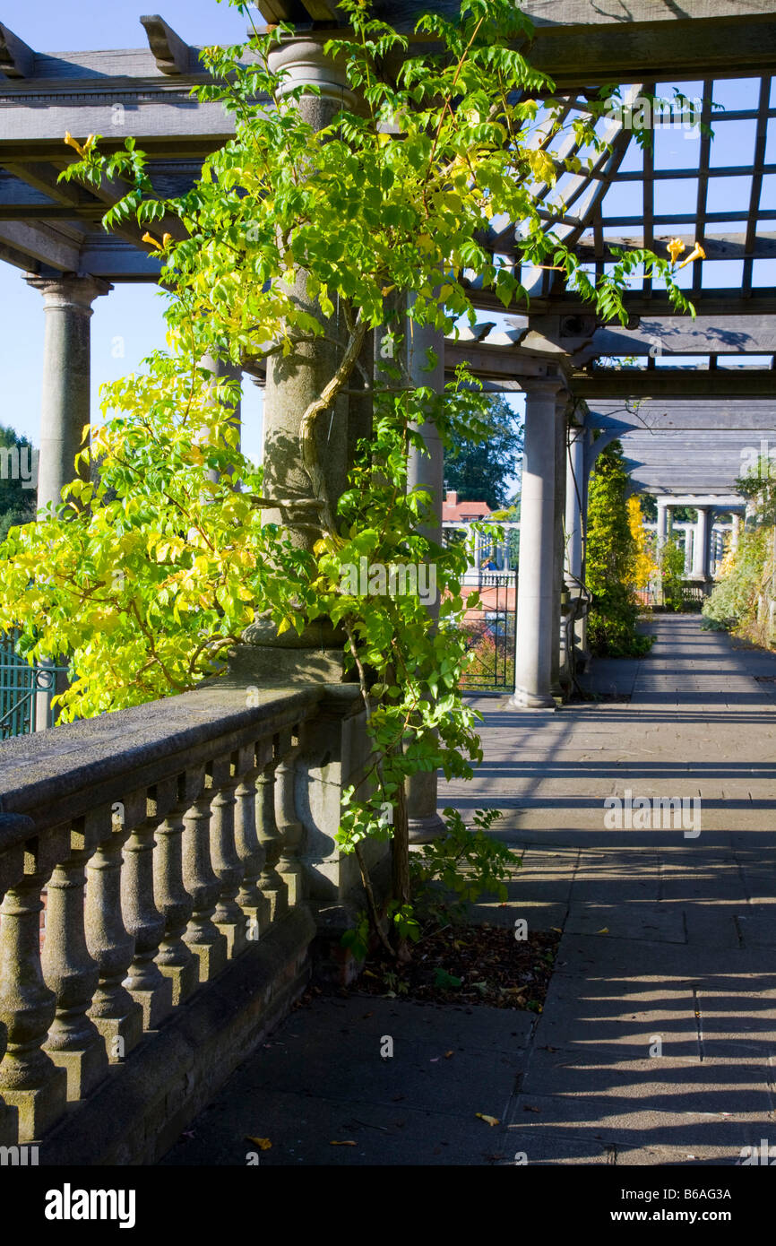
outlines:
M183 886L183 814L202 790L202 780L201 769L187 770L158 784L149 795L154 807L167 809L156 829L153 900L164 918L156 963L172 982L173 1007L188 999L199 984L199 963L183 942L192 916L192 897Z

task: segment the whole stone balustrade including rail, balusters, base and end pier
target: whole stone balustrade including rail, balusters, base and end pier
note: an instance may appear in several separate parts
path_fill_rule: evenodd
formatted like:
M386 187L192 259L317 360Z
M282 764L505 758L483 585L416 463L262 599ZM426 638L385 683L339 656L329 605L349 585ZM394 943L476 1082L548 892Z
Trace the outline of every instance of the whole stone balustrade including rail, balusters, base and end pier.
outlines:
M214 684L0 746L0 1144L153 1161L290 1006L359 709Z

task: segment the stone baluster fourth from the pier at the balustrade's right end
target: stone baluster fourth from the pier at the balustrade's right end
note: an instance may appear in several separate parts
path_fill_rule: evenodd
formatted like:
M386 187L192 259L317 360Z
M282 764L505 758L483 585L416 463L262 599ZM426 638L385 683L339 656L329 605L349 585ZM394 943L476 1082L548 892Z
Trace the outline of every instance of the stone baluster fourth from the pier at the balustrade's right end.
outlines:
M217 758L209 766L208 776L214 792L211 804L211 856L213 872L220 882L213 921L225 936L229 959L245 951L248 937L244 913L235 901L243 881L243 863L234 845L238 766L239 753Z

